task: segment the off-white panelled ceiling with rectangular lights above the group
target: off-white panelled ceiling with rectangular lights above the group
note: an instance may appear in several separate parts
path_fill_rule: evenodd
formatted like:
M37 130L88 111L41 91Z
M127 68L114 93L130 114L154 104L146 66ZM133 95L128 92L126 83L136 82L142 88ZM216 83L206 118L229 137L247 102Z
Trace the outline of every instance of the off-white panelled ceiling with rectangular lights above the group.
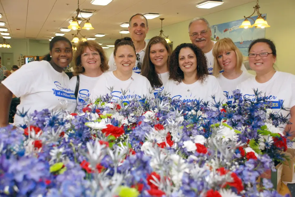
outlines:
M91 0L79 0L80 9L96 10L90 22L95 28L93 30L82 29L85 37L94 37L97 33L106 34L96 41L113 43L115 39L121 38L119 25L129 22L132 15L136 13L158 13L161 17L150 19L149 29L161 27L159 18L165 18L163 27L186 21L194 17L218 12L231 7L253 2L253 0L224 0L224 4L211 9L199 9L195 6L205 0L113 0L107 6L96 6L90 4ZM6 22L5 26L13 38L29 38L37 40L49 39L60 32L60 28L67 27L72 16L76 16L78 0L0 0L0 13ZM84 25L83 22L81 25ZM187 30L184 30L187 31ZM71 30L65 32L66 37L71 39ZM124 36L130 34L124 34Z

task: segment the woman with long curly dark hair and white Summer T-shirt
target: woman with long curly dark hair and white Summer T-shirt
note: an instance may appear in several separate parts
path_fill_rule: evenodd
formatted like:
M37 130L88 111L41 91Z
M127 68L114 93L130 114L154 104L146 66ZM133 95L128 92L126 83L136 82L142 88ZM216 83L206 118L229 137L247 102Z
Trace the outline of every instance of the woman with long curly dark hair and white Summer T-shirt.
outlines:
M172 99L194 102L197 100L216 101L224 99L217 79L208 75L206 57L194 44L183 43L172 52L169 64L169 81L166 92Z

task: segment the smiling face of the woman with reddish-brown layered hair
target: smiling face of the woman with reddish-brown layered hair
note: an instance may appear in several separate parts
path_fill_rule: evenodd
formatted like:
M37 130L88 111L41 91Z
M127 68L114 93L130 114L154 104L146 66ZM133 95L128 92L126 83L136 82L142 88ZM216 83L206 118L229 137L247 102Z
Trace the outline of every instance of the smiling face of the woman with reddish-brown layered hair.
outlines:
M86 47L81 55L81 64L85 71L100 69L100 54L93 48Z

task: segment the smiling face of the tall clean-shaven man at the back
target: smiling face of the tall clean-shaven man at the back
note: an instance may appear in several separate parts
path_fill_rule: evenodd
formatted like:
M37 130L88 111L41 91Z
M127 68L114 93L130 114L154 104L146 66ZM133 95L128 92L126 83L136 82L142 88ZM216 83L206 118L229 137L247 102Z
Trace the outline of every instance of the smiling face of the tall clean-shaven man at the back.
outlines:
M146 19L141 15L136 15L131 19L128 30L133 42L143 42L149 28L146 25Z

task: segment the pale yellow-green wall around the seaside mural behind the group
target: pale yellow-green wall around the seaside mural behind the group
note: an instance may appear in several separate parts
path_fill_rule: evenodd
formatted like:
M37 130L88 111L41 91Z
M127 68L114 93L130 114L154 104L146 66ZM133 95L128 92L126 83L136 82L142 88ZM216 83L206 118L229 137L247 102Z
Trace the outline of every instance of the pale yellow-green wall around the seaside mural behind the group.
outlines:
M253 13L256 1L203 16L210 25L221 24L242 19ZM266 38L274 41L277 48L277 70L295 74L295 0L260 0L260 12L267 14ZM256 14L257 15L257 14ZM185 42L191 42L188 35L188 24L191 20L163 27L165 35L173 41L173 48ZM165 21L164 21L165 22ZM158 36L160 29L149 31L146 39Z

